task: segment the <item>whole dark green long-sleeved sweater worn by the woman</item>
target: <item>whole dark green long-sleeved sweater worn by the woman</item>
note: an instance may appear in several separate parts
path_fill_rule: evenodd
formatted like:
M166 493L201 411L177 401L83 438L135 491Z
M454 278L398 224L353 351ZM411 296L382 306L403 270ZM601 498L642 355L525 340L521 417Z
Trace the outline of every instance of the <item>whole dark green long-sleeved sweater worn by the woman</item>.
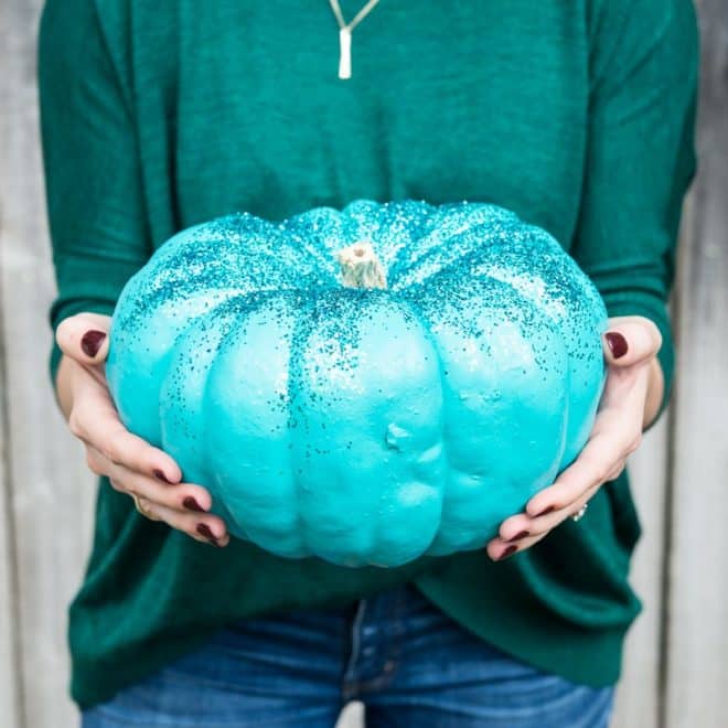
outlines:
M362 0L344 0L350 19ZM40 33L56 326L110 313L176 231L234 211L282 220L357 197L489 201L547 228L611 315L662 330L694 172L697 41L688 0L382 0L340 81L326 0L49 0ZM60 353L54 347L52 373ZM666 395L667 396L667 395ZM664 406L664 403L663 403ZM73 452L68 451L68 457ZM474 634L577 683L617 681L640 610L627 477L587 516L494 564L403 568L214 549L99 483L69 612L81 706L264 612L339 606L414 582Z

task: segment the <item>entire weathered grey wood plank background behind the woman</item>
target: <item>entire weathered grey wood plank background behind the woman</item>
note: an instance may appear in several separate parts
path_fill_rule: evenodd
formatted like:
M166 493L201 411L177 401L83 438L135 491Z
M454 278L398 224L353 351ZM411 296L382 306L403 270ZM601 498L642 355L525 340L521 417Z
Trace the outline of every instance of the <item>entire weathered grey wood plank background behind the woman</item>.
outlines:
M0 726L57 728L65 606L86 557L93 481L46 374L53 295L35 95L41 0L0 4ZM631 464L645 535L614 725L728 726L728 2L699 2L700 173L675 291L678 378ZM356 725L356 708L342 724Z

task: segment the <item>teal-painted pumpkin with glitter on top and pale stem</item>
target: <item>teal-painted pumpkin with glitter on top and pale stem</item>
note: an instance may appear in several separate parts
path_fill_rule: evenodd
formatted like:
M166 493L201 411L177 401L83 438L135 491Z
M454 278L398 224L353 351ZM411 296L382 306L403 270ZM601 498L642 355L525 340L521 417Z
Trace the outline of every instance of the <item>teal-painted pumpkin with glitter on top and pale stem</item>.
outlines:
M513 213L360 200L175 235L124 289L106 373L233 535L396 566L482 547L575 459L604 328Z

